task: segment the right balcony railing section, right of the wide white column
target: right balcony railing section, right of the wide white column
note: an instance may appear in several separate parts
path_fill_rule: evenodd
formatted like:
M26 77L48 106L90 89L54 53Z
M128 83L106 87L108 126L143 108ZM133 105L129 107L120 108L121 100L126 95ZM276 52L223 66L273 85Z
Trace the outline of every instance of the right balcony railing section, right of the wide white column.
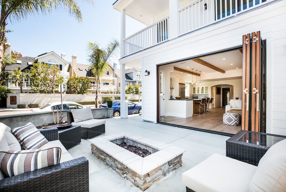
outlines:
M227 19L273 0L196 0L178 10L178 35Z

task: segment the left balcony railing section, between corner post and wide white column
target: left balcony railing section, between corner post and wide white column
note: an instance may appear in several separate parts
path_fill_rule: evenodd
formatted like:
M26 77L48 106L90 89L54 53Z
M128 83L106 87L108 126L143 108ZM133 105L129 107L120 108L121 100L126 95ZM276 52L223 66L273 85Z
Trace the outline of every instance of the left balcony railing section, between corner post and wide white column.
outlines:
M123 56L135 53L169 38L169 16L123 40Z

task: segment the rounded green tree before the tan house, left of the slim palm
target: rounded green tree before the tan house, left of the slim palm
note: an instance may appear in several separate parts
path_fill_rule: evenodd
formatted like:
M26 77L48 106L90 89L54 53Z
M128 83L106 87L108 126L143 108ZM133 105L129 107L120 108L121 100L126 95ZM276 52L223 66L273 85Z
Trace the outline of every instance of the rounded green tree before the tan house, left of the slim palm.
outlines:
M88 93L91 87L91 80L88 77L70 77L67 80L67 86L70 87L76 94Z

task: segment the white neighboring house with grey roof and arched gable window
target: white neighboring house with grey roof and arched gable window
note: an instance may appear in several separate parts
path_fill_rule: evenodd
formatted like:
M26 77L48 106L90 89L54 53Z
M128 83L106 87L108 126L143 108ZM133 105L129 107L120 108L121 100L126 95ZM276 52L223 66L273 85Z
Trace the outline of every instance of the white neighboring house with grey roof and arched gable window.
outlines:
M55 65L59 67L61 75L64 77L64 84L65 84L68 79L68 74L66 72L68 62L65 59L66 59L65 53L62 53L60 57L53 51L49 53L41 54L37 57L25 56L25 57L16 58L17 63L15 64L6 65L5 71L9 73L9 71L12 71L13 69L18 68L18 66L20 66L21 71L26 70L26 69L30 70L31 66L33 66L33 63L44 62L48 65ZM9 89L11 89L13 93L20 92L19 84L15 85L11 81L6 81L5 85ZM23 79L23 92L33 92L33 90L31 90L31 87L32 87L31 79ZM67 87L64 86L64 88L66 91Z

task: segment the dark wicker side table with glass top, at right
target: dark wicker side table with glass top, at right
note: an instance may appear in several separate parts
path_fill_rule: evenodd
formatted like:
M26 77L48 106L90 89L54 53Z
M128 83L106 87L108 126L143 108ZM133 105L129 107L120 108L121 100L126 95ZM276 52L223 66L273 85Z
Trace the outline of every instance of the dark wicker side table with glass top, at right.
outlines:
M286 136L241 130L226 141L226 156L258 165L266 151Z

